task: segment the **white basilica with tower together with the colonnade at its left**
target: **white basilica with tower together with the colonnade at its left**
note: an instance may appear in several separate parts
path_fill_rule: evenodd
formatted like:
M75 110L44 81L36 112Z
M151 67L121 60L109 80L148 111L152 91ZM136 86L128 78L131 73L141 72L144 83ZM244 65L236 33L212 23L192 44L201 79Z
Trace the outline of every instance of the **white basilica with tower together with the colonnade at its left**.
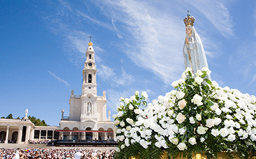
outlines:
M29 140L113 140L114 125L111 112L107 116L106 92L97 95L97 68L93 43L88 43L83 68L82 94L71 91L69 116L61 110L60 126L35 126L26 116L23 119L0 119L0 142L28 144Z

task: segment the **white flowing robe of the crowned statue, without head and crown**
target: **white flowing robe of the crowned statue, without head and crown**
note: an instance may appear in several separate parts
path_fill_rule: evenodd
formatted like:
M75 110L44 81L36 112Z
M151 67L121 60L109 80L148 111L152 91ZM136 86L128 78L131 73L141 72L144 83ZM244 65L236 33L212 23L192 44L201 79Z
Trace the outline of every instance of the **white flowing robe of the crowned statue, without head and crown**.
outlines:
M189 44L187 45L185 40L183 47L183 56L185 69L187 67L191 68L195 75L197 70L202 70L203 67L208 68L208 64L200 36L196 33L195 27L189 27L192 30L192 36L188 37L187 34L187 37L189 38ZM211 76L208 75L207 79L211 80Z

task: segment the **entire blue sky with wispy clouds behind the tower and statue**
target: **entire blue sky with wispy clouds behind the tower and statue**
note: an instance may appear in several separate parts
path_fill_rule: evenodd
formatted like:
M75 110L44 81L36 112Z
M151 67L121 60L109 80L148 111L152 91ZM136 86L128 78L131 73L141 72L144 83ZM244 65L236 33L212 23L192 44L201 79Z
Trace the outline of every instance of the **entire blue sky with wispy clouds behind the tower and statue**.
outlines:
M255 1L1 1L0 116L59 125L71 89L81 95L92 35L97 91L107 110L120 96L147 91L151 102L184 72L186 11L207 54L212 80L256 95Z

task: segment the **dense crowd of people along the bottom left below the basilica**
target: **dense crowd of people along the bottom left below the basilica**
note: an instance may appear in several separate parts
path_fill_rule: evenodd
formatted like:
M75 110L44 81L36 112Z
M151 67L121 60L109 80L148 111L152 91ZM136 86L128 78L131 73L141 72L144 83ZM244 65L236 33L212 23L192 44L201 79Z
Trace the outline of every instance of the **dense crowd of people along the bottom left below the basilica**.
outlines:
M0 159L22 158L63 158L63 159L113 159L115 150L100 151L93 149L0 149Z

